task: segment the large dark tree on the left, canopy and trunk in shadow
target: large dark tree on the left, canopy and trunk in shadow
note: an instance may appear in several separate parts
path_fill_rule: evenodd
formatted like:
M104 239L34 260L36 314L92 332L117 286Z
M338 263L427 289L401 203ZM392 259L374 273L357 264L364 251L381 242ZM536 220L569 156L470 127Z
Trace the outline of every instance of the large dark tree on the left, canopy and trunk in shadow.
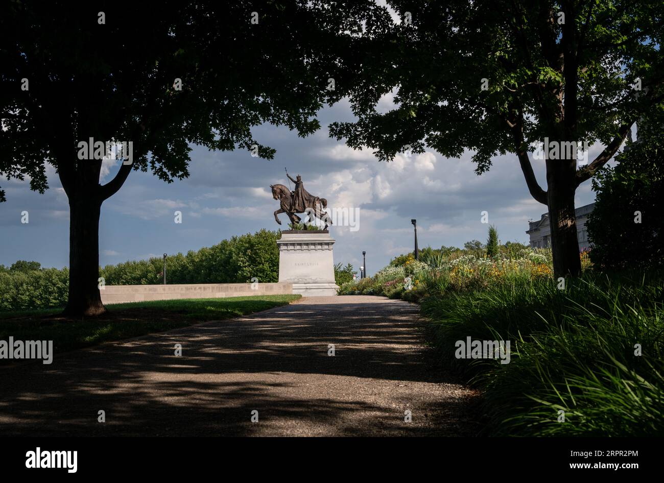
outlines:
M336 4L336 2L333 2ZM319 2L6 1L0 7L0 176L48 188L57 172L70 207L66 314L100 314L98 227L104 200L131 171L188 176L191 144L274 150L251 128L319 127L328 72L343 65L339 31L359 12ZM343 56L342 56L343 57ZM78 143L127 141L133 163L100 184L102 160ZM257 161L249 157L248 162ZM0 190L0 201L4 192Z

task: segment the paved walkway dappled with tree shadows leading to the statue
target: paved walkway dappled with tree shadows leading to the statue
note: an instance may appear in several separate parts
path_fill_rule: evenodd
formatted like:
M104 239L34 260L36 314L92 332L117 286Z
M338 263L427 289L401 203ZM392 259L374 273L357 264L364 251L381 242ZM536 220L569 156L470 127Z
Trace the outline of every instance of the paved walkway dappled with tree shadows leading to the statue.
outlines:
M382 297L307 297L0 368L0 434L473 435L475 393L434 366L417 314Z

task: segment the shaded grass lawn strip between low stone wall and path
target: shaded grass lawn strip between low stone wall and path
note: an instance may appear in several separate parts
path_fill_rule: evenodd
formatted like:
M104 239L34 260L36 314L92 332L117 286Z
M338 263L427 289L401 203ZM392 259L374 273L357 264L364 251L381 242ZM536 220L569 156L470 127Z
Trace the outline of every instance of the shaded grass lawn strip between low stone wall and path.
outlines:
M95 346L185 327L205 320L221 320L272 309L300 295L259 295L226 299L181 299L106 305L100 317L72 319L62 309L0 312L0 340L52 340L55 352ZM0 360L0 364L7 360Z

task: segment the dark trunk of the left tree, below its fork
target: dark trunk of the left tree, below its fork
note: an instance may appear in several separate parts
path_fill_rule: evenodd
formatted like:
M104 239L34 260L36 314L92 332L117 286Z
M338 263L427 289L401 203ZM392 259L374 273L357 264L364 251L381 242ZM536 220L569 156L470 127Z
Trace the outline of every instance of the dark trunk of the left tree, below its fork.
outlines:
M95 316L106 312L98 288L99 216L102 202L96 196L76 193L69 199L69 299L68 316Z

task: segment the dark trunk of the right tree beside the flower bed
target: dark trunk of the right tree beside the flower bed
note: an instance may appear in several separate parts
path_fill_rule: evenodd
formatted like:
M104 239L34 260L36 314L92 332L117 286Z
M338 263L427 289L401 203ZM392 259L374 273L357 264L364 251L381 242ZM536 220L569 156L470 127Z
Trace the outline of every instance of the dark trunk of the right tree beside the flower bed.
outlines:
M548 159L546 165L553 273L556 278L579 275L581 260L574 209L576 160Z

